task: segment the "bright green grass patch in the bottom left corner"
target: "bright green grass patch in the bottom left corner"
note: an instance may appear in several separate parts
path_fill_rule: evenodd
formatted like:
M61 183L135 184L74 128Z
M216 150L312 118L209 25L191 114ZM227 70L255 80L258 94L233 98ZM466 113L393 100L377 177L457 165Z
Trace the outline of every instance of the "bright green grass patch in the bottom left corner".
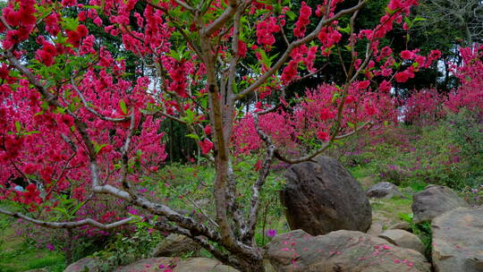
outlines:
M50 272L62 272L64 256L55 251L38 249L15 235L11 218L0 216L0 272L21 272L46 268Z

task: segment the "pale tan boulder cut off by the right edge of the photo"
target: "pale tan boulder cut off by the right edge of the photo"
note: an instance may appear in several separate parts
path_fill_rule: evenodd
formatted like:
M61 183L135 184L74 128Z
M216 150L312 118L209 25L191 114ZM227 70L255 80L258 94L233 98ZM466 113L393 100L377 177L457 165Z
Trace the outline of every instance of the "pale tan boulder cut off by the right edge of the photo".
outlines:
M483 271L483 207L448 211L431 230L436 272Z

